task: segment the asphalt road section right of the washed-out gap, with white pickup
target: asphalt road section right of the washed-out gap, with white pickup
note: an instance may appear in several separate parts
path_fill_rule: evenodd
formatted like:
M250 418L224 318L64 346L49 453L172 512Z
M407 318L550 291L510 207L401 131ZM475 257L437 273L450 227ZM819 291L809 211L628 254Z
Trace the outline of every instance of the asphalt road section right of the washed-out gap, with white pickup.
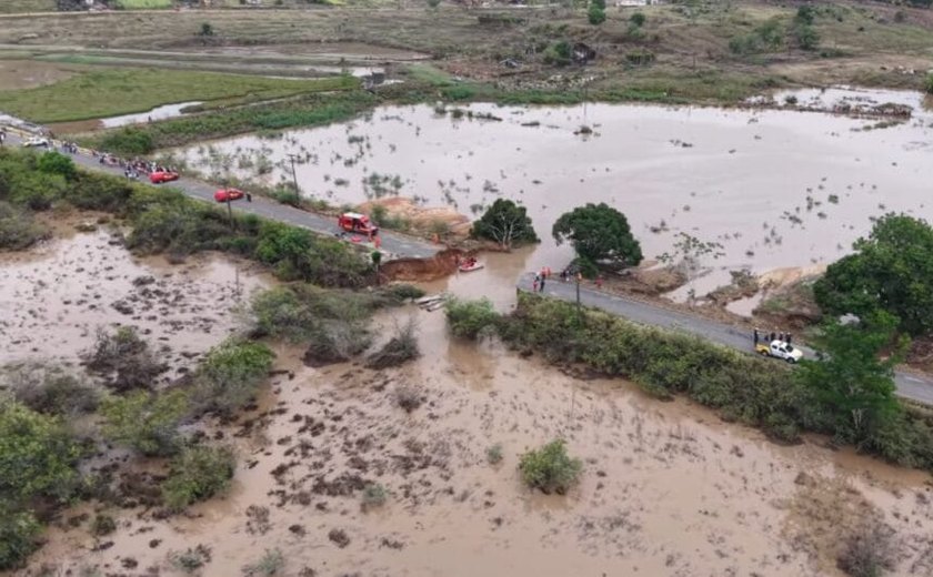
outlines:
M532 281L533 274L525 274L519 280L518 287L530 292ZM576 283L564 283L560 279L552 279L544 283L543 294L562 301L576 302ZM585 286L580 287L580 302L585 306L601 308L636 323L682 331L752 354L751 333L739 331L723 323L594 291ZM805 357L813 358L813 351L806 347L801 347L801 351L803 351ZM774 362L781 363L782 361L775 358ZM894 375L894 383L897 385L899 396L933 405L933 381L897 372Z

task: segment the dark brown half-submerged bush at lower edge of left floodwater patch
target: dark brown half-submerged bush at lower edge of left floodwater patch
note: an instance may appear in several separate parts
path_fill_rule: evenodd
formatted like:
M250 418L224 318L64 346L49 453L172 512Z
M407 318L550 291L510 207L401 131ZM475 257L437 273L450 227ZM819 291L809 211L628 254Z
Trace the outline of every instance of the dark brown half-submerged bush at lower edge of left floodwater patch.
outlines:
M83 357L88 368L103 376L117 392L151 389L156 377L167 370L131 326L121 326L112 334L99 331L93 348Z

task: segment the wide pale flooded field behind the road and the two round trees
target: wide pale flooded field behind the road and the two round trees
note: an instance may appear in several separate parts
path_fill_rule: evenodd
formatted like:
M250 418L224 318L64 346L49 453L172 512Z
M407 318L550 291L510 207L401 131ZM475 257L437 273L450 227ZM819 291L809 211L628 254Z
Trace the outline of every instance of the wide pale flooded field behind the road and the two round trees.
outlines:
M810 103L815 92L797 101ZM229 170L267 181L290 179L287 154L297 154L304 194L333 203L400 194L478 217L495 199L513 199L528 206L544 239L528 259L531 269L559 269L571 259L550 239L560 214L606 202L629 216L648 259L670 251L679 232L721 243L725 255L703 263L713 272L694 286L702 294L728 282L729 270L834 261L885 212L933 215L926 204L933 113L923 97L839 92L822 98L905 103L913 117L887 122L631 104L393 107L344 124L181 152L205 175ZM594 132L579 133L582 125Z

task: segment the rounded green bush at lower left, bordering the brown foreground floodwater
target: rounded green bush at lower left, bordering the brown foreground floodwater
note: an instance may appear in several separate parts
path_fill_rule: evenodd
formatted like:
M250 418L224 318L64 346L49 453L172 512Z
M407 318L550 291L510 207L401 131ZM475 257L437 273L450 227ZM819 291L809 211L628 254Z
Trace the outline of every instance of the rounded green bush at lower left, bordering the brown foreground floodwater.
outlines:
M223 493L230 486L237 458L227 447L185 447L169 465L162 482L162 500L179 512L199 500Z

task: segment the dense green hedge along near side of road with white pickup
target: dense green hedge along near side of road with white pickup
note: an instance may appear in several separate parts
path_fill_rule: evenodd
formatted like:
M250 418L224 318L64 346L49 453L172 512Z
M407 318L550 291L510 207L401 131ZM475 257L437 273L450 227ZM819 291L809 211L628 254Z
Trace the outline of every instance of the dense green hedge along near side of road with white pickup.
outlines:
M458 335L473 337L492 327L522 351L623 376L660 397L686 394L775 439L826 433L839 443L933 470L933 415L897 402L891 383L896 357L879 360L891 344L890 320L826 326L815 341L820 361L804 361L794 371L700 337L533 295L521 295L508 316L486 303L459 302L448 308L448 318Z

